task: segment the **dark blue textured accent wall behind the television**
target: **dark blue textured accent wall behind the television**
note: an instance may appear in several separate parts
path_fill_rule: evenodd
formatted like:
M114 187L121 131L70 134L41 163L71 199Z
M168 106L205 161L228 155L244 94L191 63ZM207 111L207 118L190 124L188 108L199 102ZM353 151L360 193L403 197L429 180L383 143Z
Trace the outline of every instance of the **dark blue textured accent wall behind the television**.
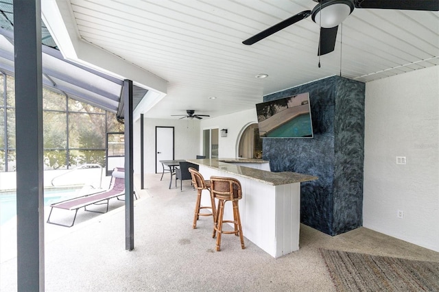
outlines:
M333 76L278 93L309 93L314 138L264 138L272 171L318 176L301 186L300 221L330 235L362 225L365 84Z

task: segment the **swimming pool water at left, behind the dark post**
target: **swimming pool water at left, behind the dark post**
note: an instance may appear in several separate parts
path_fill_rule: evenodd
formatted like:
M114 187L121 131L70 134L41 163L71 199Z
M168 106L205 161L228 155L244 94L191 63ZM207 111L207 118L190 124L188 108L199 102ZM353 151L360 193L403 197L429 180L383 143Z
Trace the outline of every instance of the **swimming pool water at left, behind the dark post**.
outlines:
M69 199L77 195L78 188L54 188L45 189L44 206L49 206L63 199ZM14 218L16 215L16 193L0 193L0 226Z

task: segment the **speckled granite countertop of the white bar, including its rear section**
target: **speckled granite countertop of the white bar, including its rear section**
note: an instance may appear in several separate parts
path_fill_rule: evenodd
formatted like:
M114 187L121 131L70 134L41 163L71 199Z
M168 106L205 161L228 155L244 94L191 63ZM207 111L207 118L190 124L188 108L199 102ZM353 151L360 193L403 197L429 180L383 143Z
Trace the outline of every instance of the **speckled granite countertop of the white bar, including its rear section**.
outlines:
M256 180L264 184L270 184L272 186L278 186L281 184L293 184L296 182L309 182L311 180L318 180L318 177L313 175L307 175L302 173L295 173L292 171L283 172L271 172L261 169L253 169L251 167L243 167L234 165L228 162L240 162L240 163L265 163L267 160L251 159L251 158L215 158L215 159L193 159L187 160L195 165L204 165L211 169L217 169L225 171L226 173L232 173L240 175L250 180ZM206 178L207 179L207 178Z

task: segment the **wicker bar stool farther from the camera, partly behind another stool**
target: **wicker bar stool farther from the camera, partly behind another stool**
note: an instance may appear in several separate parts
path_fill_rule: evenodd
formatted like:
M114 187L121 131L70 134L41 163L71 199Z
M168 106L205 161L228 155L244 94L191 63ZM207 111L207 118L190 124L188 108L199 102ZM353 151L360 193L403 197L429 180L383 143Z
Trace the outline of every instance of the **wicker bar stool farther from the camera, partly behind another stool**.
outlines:
M215 224L215 200L213 199L211 195L211 182L209 180L204 180L201 173L198 172L198 170L194 169L193 167L189 167L189 172L192 176L192 184L193 187L197 190L197 202L195 203L195 212L193 212L193 223L192 228L197 228L197 220L200 218L200 216L212 216L213 223ZM209 191L209 195L211 196L211 206L203 206L201 207L201 193L203 190ZM202 213L200 212L200 209L211 209L211 213Z

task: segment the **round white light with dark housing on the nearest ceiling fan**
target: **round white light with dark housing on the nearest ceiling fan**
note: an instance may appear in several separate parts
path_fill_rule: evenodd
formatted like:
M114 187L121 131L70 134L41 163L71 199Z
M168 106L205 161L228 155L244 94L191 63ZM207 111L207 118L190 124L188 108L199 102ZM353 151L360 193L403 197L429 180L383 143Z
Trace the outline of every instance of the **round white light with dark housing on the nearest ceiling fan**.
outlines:
M331 28L340 25L352 12L354 6L351 1L334 0L318 4L312 12L312 19L320 27ZM321 14L321 15L320 15ZM322 23L320 24L320 20Z

